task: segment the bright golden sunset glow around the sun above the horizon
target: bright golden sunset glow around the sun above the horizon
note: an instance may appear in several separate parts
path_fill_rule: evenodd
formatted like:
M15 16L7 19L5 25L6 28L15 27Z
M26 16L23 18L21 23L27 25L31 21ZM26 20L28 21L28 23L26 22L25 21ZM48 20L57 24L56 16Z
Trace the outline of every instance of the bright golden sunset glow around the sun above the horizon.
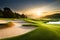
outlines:
M32 8L32 9L28 9L28 10L23 10L20 13L23 13L31 18L39 18L39 17L43 16L43 12L44 12L44 10L41 8Z

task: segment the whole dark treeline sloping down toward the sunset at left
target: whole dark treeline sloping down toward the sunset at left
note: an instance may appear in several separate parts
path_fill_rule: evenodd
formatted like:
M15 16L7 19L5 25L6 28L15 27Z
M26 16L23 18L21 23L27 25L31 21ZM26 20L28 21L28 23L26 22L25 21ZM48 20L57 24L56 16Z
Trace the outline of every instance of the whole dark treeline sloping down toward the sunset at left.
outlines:
M0 9L0 18L27 18L27 16L14 13L10 8L5 7L3 10Z

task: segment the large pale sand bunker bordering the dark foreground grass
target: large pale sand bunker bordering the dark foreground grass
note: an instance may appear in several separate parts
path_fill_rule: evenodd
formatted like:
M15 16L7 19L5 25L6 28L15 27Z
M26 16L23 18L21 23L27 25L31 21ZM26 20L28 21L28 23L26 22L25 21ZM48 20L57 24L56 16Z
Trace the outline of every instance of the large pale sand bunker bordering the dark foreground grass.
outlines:
M22 35L35 29L34 27L22 27L21 23L14 24L13 27L0 30L0 39Z

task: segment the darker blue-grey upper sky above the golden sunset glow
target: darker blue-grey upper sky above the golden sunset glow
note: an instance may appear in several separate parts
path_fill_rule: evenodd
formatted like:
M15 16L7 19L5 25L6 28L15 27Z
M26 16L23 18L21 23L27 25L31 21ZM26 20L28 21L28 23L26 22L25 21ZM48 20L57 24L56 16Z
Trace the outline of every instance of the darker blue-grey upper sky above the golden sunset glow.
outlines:
M60 7L59 0L0 0L0 8L9 7L15 11L34 8L34 7L43 7L50 5L53 8Z

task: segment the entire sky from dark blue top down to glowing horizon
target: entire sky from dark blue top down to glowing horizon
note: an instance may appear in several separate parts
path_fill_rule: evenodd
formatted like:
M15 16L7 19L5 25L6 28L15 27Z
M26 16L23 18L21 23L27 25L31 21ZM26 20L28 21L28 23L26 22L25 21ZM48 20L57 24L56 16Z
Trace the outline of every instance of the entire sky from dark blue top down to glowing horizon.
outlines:
M42 17L43 13L52 10L60 10L60 0L0 0L0 9L8 7L19 14L25 14L28 17Z

